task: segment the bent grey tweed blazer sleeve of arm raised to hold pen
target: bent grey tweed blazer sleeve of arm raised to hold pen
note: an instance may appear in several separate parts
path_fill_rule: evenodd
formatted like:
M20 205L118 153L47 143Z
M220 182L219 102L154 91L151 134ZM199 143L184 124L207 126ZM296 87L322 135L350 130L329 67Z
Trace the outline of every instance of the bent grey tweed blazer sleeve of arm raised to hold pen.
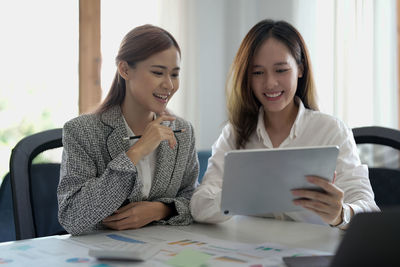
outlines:
M99 174L93 155L101 153L90 140L89 132L88 128L70 122L63 129L58 219L72 235L102 229L101 221L132 192L137 175L135 166L123 152Z

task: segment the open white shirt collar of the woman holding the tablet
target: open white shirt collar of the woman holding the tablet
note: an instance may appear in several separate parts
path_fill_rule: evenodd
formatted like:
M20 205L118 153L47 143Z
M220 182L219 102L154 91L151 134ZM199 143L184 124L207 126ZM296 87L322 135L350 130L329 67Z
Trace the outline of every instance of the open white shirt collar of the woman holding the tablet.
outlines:
M301 101L301 99L298 96L295 96L294 100L295 100L296 104L299 106L299 110L297 112L296 119L295 119L293 126L289 133L289 138L291 138L291 139L294 139L296 136L299 135L301 126L304 122L304 114L305 114L305 110L306 110L303 102ZM268 136L267 130L265 129L265 126L264 126L264 108L263 108L263 106L260 106L260 109L258 110L256 135L257 135L259 141L265 140L266 137Z

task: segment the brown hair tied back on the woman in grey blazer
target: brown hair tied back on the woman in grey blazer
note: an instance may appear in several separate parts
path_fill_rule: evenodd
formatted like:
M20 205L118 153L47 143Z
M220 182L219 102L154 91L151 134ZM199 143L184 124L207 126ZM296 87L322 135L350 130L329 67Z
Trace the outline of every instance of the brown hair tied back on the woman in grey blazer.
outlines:
M179 55L181 55L178 43L169 32L157 26L142 25L125 35L115 62L118 66L119 62L126 61L130 67L134 68L138 62L146 60L171 46L175 46ZM125 90L125 80L117 70L111 88L96 113L102 113L113 106L121 105L125 98Z

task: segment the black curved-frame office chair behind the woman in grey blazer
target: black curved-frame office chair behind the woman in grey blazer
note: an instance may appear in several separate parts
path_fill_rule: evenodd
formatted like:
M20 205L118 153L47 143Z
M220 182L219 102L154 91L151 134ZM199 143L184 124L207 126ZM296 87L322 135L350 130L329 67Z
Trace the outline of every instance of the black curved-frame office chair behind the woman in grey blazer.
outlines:
M23 138L10 159L16 239L67 233L58 222L59 163L32 164L41 152L62 147L62 129Z

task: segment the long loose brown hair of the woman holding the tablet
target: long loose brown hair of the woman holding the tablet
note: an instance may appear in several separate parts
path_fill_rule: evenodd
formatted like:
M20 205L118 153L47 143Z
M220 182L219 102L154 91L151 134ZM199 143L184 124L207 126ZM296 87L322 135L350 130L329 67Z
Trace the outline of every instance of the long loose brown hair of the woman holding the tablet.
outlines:
M303 75L298 79L296 96L306 108L318 110L311 62L303 37L285 21L262 20L244 37L226 84L229 122L234 128L237 149L246 145L257 127L261 103L251 89L250 66L259 47L268 38L274 38L285 44L298 66L302 66Z

